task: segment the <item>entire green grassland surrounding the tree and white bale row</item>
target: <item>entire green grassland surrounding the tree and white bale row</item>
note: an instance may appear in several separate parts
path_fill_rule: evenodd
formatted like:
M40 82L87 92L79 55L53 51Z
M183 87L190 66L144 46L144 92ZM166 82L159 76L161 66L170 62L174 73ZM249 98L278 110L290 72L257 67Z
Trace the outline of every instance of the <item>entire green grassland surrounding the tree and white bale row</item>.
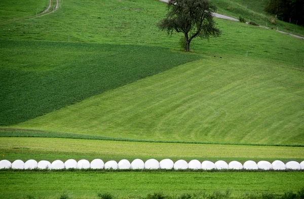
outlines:
M269 22L261 1L212 2L219 13ZM54 13L2 23L47 5L0 3L0 160L304 160L303 39L216 19L221 36L195 38L185 53L182 35L158 30L166 4L157 0L64 0ZM0 197L231 188L232 198L257 199L243 196L297 191L303 174L7 170Z

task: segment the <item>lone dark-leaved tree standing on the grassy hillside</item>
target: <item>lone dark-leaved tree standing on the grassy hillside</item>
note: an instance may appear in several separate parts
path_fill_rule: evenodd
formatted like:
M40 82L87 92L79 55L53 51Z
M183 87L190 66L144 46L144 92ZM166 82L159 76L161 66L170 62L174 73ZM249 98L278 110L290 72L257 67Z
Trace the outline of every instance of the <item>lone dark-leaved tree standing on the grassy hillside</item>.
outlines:
M213 12L216 7L208 0L169 0L168 13L158 26L161 30L182 32L185 36L184 48L190 51L190 43L196 36L209 39L218 36L220 30L215 27Z

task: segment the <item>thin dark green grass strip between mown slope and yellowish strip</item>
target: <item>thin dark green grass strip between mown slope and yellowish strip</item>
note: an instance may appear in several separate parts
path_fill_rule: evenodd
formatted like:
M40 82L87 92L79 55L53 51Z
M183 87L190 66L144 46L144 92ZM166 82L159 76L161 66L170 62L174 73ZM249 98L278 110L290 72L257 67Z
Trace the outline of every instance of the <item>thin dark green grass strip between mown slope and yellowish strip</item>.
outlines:
M304 147L299 144L246 144L246 143L218 143L218 142L187 142L187 141L161 141L161 140L137 140L126 138L111 138L94 135L59 133L59 132L39 132L24 130L9 130L0 128L0 137L42 137L42 138L71 138L71 139L87 139L87 140L110 140L110 141L128 141L128 142L154 142L154 143L183 143L183 144L220 144L220 145L249 145L249 146L293 146Z

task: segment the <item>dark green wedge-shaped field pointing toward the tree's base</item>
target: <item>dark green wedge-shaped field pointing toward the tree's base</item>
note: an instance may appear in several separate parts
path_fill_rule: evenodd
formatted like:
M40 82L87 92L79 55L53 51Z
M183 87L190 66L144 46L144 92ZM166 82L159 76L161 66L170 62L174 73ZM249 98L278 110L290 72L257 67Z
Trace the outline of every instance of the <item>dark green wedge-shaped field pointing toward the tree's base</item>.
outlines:
M0 51L0 126L199 58L163 47L40 41L1 40Z

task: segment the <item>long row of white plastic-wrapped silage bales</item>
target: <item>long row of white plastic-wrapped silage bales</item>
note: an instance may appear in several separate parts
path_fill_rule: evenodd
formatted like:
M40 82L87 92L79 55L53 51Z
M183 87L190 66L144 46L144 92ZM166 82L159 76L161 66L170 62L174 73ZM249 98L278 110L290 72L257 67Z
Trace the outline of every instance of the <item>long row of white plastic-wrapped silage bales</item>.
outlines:
M203 170L212 170L212 169L246 169L246 170L300 170L304 169L304 161L301 163L290 161L284 164L282 161L274 161L270 163L268 161L260 161L255 163L254 161L246 161L243 165L238 161L232 161L227 164L224 161L217 161L215 163L211 161L199 162L198 160L192 160L187 163L184 160L178 160L175 163L170 159L164 159L158 162L155 159L149 159L146 162L143 162L140 159L135 159L132 163L128 160L121 160L119 163L116 161L108 161L104 163L100 159L95 159L91 163L87 160L75 161L69 159L64 163L60 160L56 160L53 163L49 161L40 161L37 163L35 160L28 160L25 163L21 160L16 160L13 163L2 160L0 161L0 169L203 169Z

